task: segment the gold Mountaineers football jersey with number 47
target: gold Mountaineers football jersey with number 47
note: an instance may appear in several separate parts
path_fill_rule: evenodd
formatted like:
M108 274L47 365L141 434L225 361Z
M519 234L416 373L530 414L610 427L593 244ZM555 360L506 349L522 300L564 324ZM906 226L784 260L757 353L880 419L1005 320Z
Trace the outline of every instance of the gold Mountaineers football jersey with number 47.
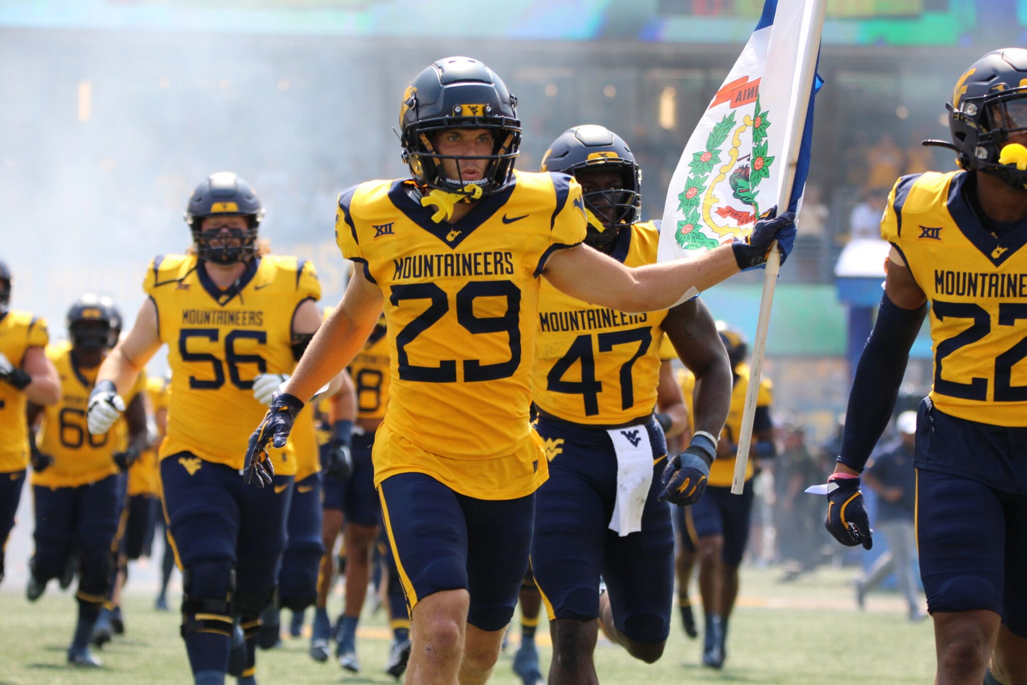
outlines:
M635 224L611 257L626 266L656 261L659 227ZM564 295L543 281L532 391L544 412L574 423L614 425L647 417L659 384L660 325L667 310L626 314Z

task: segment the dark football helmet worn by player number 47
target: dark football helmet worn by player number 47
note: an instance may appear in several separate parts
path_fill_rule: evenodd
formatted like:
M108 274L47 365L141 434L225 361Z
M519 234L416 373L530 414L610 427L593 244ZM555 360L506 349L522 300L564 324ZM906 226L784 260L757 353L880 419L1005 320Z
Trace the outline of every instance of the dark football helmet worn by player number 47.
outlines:
M620 187L584 193L589 217L584 241L594 248L608 244L624 226L639 220L642 207L642 169L623 139L609 128L585 124L568 128L553 141L542 157L542 172L577 176L591 169L620 175Z

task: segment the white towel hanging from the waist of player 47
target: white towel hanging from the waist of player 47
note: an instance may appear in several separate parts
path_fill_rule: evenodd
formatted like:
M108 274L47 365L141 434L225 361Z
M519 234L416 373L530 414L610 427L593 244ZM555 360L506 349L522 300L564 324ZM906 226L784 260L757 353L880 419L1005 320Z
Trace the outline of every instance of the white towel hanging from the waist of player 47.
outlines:
M652 485L652 447L645 424L607 432L617 453L617 499L610 530L624 537L642 530L642 511Z

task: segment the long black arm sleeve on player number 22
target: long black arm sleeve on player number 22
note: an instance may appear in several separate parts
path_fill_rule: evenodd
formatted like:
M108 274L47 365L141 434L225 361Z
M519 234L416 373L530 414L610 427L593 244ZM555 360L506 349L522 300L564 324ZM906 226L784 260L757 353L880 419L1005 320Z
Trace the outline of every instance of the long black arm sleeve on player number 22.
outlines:
M917 309L903 309L886 294L881 297L877 321L863 348L848 395L838 461L849 468L863 470L888 425L906 374L909 350L926 313L926 303Z

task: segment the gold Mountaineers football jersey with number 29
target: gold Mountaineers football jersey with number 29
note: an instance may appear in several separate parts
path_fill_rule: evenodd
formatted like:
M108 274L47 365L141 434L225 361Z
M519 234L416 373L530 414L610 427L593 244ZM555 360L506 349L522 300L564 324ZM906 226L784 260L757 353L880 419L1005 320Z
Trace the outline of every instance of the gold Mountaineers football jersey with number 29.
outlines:
M581 187L562 174L515 172L460 221L436 224L433 214L411 181L370 181L339 197L339 248L382 291L384 425L438 457L424 464L376 442L375 480L426 472L495 499L502 471L501 496L524 496L546 478L540 450L524 449L539 276L555 250L584 239ZM518 467L490 463L503 458Z

